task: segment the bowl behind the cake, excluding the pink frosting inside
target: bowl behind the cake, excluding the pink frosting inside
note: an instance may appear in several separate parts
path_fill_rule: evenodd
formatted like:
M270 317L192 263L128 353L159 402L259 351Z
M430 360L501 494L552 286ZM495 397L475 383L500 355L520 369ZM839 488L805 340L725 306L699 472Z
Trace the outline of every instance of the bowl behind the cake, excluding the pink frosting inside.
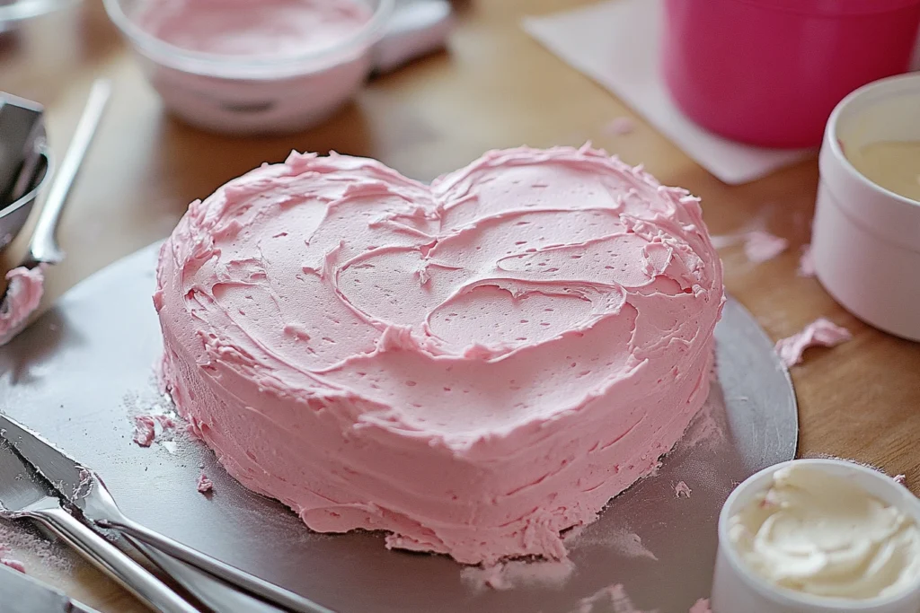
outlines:
M157 39L132 19L156 1L104 3L167 108L192 125L231 134L300 131L327 119L371 72L374 43L393 10L393 0L363 0L373 16L350 38L313 53L250 59Z

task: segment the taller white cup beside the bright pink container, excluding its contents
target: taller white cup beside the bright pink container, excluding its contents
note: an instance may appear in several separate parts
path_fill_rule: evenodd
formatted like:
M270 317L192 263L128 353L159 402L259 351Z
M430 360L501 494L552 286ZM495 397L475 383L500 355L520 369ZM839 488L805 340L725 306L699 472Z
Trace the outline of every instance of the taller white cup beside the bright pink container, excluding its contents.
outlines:
M857 89L828 120L811 236L815 271L844 308L920 341L920 203L872 183L845 151L920 141L920 74Z

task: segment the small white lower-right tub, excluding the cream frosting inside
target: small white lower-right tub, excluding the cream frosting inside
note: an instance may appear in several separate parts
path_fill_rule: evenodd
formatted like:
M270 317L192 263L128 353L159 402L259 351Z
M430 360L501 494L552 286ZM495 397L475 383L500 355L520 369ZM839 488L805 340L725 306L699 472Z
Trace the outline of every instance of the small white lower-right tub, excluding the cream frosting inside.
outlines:
M747 566L729 539L729 520L763 493L773 474L790 464L808 466L838 477L852 479L869 494L914 517L920 525L920 502L891 477L846 460L790 460L760 471L742 482L719 514L719 553L712 585L713 613L917 613L920 611L920 580L892 596L845 600L799 594L768 583Z

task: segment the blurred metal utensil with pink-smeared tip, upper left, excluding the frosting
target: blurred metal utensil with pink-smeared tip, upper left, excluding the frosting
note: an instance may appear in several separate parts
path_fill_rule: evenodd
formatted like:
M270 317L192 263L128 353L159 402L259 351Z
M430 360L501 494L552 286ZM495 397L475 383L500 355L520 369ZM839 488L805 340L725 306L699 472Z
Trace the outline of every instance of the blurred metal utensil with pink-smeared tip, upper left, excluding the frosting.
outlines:
M70 188L74 185L80 165L83 164L86 150L96 134L99 120L102 119L102 112L109 102L110 94L111 85L108 80L100 79L93 84L89 99L86 101L83 116L76 126L74 139L71 141L70 147L67 148L61 168L54 176L51 191L48 193L48 198L45 199L45 204L41 208L35 229L32 231L32 238L29 241L29 253L19 263L19 267L34 268L40 265L54 265L63 259L63 252L55 238L58 222L61 221L61 213L67 203L67 197L70 195ZM0 300L0 312L8 312L9 310L6 298L5 293L2 300ZM23 317L17 326L7 331L6 335L0 337L0 345L6 344L16 336L28 321L28 317Z

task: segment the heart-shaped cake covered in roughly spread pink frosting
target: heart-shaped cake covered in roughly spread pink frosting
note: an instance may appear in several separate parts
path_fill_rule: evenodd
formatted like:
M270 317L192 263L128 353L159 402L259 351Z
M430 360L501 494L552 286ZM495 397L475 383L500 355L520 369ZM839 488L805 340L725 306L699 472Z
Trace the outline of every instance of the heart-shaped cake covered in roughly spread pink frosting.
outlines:
M722 269L698 201L587 147L431 187L292 153L193 202L163 376L226 469L321 532L565 556L707 397Z

